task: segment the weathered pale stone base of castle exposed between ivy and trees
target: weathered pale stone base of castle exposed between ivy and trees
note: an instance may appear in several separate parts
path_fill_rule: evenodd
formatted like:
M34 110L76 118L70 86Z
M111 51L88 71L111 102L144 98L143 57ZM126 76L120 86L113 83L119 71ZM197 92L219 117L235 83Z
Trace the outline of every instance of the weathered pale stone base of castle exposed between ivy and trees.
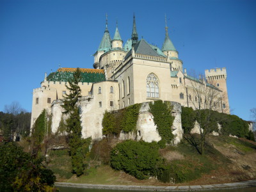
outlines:
M172 115L175 117L173 121L173 134L175 136L173 144L177 145L182 139L181 127L181 105L178 102L171 102L173 106ZM81 109L81 126L83 138L92 137L93 140L102 138L102 118L104 111L95 111L95 102L93 99L84 99L79 102ZM52 113L52 132L58 131L62 116L63 108L60 103L56 103L51 108ZM67 117L64 117L66 119ZM136 132L120 133L120 140L144 140L147 142L160 141L161 137L157 132L154 124L154 116L150 113L149 103L143 102L138 115Z

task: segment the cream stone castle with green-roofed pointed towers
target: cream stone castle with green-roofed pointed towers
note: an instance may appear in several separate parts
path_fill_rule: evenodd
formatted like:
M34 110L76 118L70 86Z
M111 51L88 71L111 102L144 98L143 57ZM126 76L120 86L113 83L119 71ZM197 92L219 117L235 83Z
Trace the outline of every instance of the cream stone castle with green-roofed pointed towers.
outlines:
M207 103L206 93L214 92L216 96L211 99L211 104L214 102L215 110L229 113L226 68L205 70L205 78L189 76L182 67L179 52L170 40L167 26L163 47L159 49L143 38L138 39L134 16L131 39L123 43L117 26L111 39L106 20L104 35L93 54L93 68L81 68L82 80L79 86L83 95L80 106L84 138L102 138L104 111L159 99L172 101L175 106L173 132L177 136L176 143L182 138L180 106L198 109L201 103ZM65 85L75 70L58 68L49 76L45 73L41 87L33 90L31 129L42 109L47 109L52 114L52 132L57 131L63 116L61 99L68 92ZM160 140L156 126L150 122L152 116L147 103L140 113L138 138Z

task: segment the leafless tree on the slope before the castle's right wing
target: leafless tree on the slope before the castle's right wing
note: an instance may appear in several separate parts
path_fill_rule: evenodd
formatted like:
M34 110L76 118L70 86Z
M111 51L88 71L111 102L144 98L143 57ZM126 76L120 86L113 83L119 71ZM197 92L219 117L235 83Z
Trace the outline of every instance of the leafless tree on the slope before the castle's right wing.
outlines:
M217 122L212 120L214 111L223 112L222 92L212 84L207 83L202 75L199 76L199 79L184 76L184 87L186 89L187 105L195 109L195 118L200 132L200 146L196 146L196 148L200 154L204 154L205 137L210 132L218 129ZM191 141L195 144L195 138L192 135L190 136Z

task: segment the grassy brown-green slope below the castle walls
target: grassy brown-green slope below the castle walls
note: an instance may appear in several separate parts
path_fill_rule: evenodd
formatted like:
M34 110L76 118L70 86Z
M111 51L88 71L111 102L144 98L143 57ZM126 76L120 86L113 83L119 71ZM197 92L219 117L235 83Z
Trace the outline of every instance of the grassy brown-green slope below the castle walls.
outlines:
M216 184L256 178L256 143L227 136L209 136L205 155L200 156L194 147L182 141L177 147L159 150L161 155L177 165L180 172L190 171L188 177L198 179L184 184ZM166 185L151 178L138 180L124 172L116 172L108 165L91 161L86 175L76 177L70 173L71 164L67 150L49 154L49 168L58 181L88 184ZM190 176L189 176L190 174ZM170 185L170 184L169 184Z

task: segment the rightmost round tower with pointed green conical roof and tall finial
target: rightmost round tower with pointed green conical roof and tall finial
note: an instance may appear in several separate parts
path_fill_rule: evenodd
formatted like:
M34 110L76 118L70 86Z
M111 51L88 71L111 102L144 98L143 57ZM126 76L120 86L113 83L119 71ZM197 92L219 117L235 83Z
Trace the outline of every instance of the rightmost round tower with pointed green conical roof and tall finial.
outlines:
M166 23L166 15L165 15L165 38L162 46L163 53L167 56L169 60L172 62L172 68L174 70L182 70L182 61L179 60L179 52L175 49L169 35L168 35L168 27Z

